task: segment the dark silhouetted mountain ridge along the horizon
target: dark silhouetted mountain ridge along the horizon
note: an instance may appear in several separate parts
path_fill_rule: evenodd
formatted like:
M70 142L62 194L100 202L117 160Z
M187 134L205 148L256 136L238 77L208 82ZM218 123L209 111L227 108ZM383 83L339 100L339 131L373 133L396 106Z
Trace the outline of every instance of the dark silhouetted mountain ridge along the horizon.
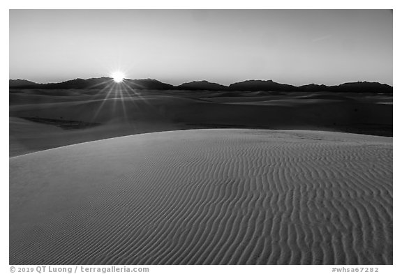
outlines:
M25 79L10 79L10 89L106 89L113 84L110 77L72 79L60 83L38 84ZM292 86L280 84L272 80L246 80L224 86L211 83L206 80L193 81L178 86L166 84L156 79L124 79L124 87L127 89L156 89L156 90L211 90L211 91L333 91L333 92L370 92L370 93L392 93L393 87L378 82L350 82L337 86L326 86L323 84L307 84L303 86Z

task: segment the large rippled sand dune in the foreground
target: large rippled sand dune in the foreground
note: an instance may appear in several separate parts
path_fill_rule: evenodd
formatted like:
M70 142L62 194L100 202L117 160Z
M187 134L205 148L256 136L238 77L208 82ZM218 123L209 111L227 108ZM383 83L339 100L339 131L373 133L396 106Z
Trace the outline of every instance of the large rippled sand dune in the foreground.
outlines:
M10 158L10 264L392 264L392 138L183 130Z

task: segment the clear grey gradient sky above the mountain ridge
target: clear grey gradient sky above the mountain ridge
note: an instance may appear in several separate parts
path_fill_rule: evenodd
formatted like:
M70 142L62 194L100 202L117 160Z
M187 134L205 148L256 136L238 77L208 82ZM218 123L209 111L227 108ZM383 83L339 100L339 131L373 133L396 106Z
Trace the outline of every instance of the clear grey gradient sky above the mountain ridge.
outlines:
M10 79L392 85L391 10L10 10Z

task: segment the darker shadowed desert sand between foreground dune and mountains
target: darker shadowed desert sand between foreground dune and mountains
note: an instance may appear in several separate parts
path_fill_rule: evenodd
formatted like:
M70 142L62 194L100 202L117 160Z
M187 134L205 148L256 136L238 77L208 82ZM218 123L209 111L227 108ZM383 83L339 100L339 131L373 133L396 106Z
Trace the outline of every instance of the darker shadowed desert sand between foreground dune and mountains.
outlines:
M10 157L111 137L202 128L392 136L392 94L10 89Z

